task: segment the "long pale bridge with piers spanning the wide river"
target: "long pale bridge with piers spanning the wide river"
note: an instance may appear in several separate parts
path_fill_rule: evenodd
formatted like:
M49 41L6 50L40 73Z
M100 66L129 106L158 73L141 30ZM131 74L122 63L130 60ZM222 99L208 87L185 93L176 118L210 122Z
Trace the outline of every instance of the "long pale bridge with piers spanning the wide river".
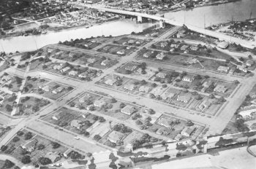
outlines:
M80 4L80 5L83 7L98 9L99 11L102 11L102 12L111 12L111 13L115 13L115 14L130 15L130 16L138 17L138 21L141 21L142 18L145 17L145 18L148 18L151 20L159 20L160 22L168 23L170 25L178 25L178 26L186 25L187 28L189 28L189 30L191 30L191 31L195 31L200 34L205 34L207 36L211 36L211 37L217 38L219 40L224 40L224 41L230 42L230 43L241 44L241 46L247 47L249 49L253 49L256 47L256 42L249 42L244 39L238 39L233 36L227 36L225 34L220 34L215 31L210 31L210 30L207 30L204 28L199 28L194 25L184 24L184 23L178 22L176 20L171 20L171 19L168 19L165 17L160 17L157 15L148 15L146 13L131 12L131 11L126 11L126 10L121 10L121 9L110 9L110 8L105 8L105 7L97 7L97 6L88 5L88 4Z

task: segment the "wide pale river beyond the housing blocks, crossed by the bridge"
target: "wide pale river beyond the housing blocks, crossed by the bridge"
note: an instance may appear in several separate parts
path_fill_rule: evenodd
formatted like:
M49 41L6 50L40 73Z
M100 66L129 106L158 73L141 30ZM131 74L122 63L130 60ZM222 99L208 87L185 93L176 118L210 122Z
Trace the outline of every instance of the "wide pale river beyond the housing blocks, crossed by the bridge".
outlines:
M206 26L211 24L225 23L231 20L245 20L256 17L256 0L241 0L234 3L219 4L217 6L197 7L178 12L166 12L165 17L184 22L197 27L204 27L204 16ZM89 38L91 36L119 36L130 34L132 31L139 32L152 25L151 23L136 24L132 20L117 20L102 25L94 25L90 28L70 28L58 32L50 32L37 36L16 36L0 39L0 52L15 52L37 50L47 44L56 44L70 39Z

